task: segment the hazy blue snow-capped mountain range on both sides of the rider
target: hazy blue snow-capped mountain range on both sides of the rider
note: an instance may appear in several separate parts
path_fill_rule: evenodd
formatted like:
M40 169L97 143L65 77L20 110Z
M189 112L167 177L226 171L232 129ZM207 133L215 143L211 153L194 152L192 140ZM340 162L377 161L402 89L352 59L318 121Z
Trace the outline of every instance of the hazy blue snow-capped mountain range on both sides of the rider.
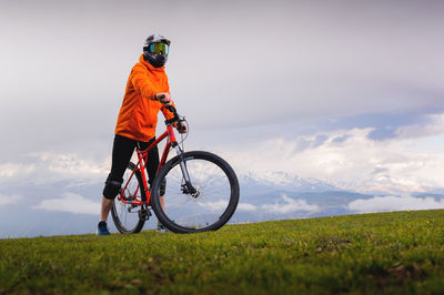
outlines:
M284 172L241 174L239 182L240 202L231 223L402 210L393 205L384 207L380 196L343 191L321 180ZM92 233L99 217L102 189L102 181L91 180L2 183L0 238ZM407 201L427 201L432 207L444 204L442 194L414 197ZM372 200L379 206L374 206ZM152 217L145 228L153 227L155 221ZM115 232L112 222L110 225Z

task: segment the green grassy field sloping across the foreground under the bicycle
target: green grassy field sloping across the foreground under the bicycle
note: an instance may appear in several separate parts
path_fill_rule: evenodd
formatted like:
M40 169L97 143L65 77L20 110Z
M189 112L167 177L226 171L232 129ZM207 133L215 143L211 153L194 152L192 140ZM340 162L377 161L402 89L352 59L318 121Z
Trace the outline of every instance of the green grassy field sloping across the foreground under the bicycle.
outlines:
M444 211L0 241L0 293L444 294Z

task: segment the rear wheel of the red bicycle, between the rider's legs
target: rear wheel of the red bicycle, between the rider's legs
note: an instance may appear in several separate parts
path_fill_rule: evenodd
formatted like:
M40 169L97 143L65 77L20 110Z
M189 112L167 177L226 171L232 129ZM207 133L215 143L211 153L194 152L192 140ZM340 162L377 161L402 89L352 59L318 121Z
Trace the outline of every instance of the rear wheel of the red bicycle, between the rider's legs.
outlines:
M138 200L147 200L143 192L143 181L140 171L135 171L135 165L130 162L123 175L123 199L128 202ZM125 186L127 185L127 186ZM147 205L134 205L124 203L119 196L114 199L111 207L111 216L114 221L115 227L122 234L139 233L145 220L149 217L150 212Z

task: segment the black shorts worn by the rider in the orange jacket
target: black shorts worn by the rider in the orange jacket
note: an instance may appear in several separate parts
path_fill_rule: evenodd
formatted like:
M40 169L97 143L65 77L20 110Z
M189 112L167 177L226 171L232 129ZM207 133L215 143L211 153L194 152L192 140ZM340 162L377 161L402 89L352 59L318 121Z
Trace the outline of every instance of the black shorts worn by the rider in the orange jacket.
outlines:
M147 150L151 143L155 141L155 138L149 142L135 141L122 135L115 134L114 144L112 145L112 163L111 172L108 175L108 181L123 182L123 174L128 167L128 163L131 160L132 153L135 148L140 150ZM147 159L147 172L148 172L148 183L151 185L154 181L155 173L159 166L159 149L154 146L148 152Z

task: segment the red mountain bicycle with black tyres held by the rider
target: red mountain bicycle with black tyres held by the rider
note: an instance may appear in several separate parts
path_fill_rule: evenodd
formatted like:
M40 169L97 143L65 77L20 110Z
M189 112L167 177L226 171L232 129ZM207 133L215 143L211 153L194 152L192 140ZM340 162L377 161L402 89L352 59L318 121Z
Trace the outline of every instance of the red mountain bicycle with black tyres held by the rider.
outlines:
M233 169L220 156L184 152L172 124L184 122L174 106L165 106L174 118L165 120L167 131L147 150L135 149L138 162L130 162L111 215L119 232L139 233L151 216L175 233L215 231L233 215L239 202L239 181ZM147 182L147 154L167 139L152 186ZM171 149L176 156L167 162Z

